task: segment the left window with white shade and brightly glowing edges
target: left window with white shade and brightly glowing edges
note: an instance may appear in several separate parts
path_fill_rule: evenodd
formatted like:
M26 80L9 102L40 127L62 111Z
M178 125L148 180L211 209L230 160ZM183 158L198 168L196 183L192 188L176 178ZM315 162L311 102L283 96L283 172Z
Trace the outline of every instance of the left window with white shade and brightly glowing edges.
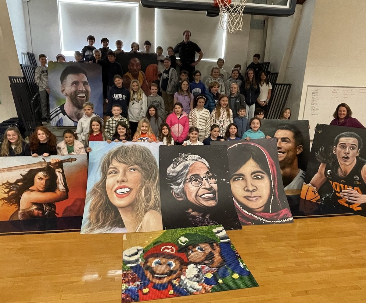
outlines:
M58 0L61 53L73 56L87 45L86 37L96 38L100 48L103 37L109 39L109 48L115 50L116 40L123 41L123 49L130 50L138 41L138 3L95 0Z

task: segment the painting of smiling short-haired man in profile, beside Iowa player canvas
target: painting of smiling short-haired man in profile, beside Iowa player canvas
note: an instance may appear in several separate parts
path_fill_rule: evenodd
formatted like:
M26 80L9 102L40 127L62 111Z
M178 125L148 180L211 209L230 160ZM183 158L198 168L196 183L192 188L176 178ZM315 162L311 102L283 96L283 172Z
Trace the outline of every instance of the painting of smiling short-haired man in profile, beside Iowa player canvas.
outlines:
M277 140L285 190L301 189L310 156L307 120L262 120L261 130Z

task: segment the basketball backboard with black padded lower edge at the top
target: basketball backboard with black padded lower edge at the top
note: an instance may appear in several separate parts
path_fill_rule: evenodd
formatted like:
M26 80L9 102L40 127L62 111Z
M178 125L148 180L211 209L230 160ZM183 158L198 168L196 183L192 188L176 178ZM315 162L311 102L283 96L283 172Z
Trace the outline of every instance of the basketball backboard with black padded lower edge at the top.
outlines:
M214 0L141 0L143 7L206 11L207 16L218 16L219 8L213 3ZM296 0L247 0L244 14L290 16L295 6Z

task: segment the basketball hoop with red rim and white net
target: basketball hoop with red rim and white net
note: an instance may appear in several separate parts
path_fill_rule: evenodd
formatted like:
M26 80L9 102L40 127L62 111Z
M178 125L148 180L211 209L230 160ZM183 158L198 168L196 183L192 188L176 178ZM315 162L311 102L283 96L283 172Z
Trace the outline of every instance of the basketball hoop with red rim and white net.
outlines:
M220 26L230 33L241 31L243 12L247 0L214 0L213 5L220 8Z

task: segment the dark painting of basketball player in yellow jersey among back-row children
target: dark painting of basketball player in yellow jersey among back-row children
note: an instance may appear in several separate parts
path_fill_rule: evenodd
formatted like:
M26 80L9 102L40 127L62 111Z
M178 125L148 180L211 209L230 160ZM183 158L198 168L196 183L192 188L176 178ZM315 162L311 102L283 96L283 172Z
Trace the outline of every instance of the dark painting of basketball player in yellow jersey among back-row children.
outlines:
M149 73L147 70L148 66L151 64L157 65L157 54L119 53L117 54L116 61L122 66L124 72L123 86L128 89L132 80L138 80L145 95L150 96L149 79L147 79L146 73Z

